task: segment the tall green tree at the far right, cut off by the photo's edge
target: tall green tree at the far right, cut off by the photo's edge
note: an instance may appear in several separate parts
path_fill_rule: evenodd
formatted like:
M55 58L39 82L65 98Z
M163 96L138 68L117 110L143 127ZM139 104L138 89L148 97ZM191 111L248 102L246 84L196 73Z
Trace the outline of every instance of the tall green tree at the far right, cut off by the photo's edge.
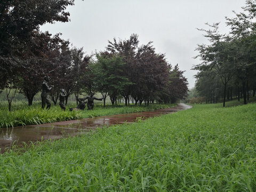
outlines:
M244 13L235 13L235 18L227 18L227 25L230 26L230 34L238 47L236 63L236 76L242 82L244 104L249 100L249 81L254 82L253 69L255 68L255 59L251 57L255 47L255 29L256 23L253 22L256 16L256 2L247 0L246 6L242 7ZM247 14L246 14L247 13ZM247 90L247 91L246 91ZM246 97L247 95L247 97Z

